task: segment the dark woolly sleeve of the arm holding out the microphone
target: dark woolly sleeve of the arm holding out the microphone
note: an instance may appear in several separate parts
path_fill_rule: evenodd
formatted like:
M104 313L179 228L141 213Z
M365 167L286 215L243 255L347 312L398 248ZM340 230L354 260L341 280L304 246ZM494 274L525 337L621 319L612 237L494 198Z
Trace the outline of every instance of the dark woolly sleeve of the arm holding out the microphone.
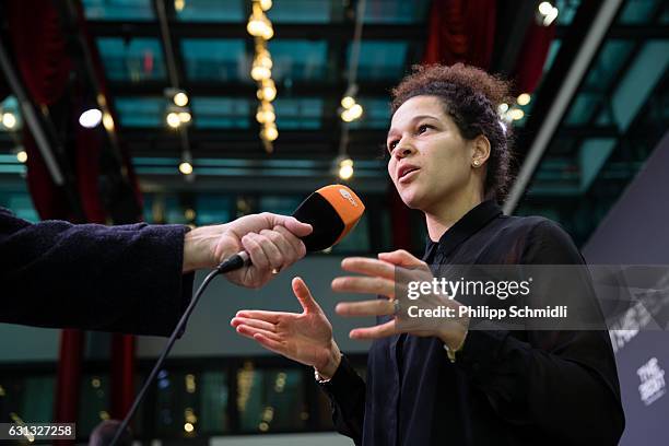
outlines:
M32 224L0 208L0 321L168 336L192 294L181 225Z

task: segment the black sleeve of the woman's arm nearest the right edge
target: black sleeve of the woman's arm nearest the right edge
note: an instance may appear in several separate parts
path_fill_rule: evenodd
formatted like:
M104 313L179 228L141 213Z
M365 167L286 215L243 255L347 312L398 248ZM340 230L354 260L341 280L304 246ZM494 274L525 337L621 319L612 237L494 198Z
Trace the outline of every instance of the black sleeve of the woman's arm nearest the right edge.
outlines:
M523 263L584 261L570 236L544 221L531 231ZM575 277L568 285L591 290L587 281ZM582 306L601 315L594 293L585 295L589 302ZM485 392L498 416L525 430L521 432L560 438L564 444L618 445L624 414L606 330L509 332L490 328L470 330L456 364Z

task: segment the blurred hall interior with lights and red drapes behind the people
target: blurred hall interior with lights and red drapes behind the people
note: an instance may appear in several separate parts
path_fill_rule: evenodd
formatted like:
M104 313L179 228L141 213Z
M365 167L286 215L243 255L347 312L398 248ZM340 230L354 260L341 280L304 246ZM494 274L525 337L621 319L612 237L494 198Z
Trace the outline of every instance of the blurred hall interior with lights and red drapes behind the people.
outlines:
M332 316L343 256L422 255L422 220L385 167L389 90L420 62L512 79L498 110L517 154L505 211L558 221L590 262L668 265L669 215L656 214L669 209L668 24L661 0L8 0L0 206L32 222L206 225L291 213L349 184L367 207L355 231L263 290L214 282L133 426L143 444L351 444L330 433L313 371L228 321L297 310L293 273ZM331 320L364 374L368 345ZM617 348L624 442L666 444L668 338L634 336ZM85 442L122 418L163 343L0 326L0 418L73 421ZM653 359L660 390L647 403L637 371Z

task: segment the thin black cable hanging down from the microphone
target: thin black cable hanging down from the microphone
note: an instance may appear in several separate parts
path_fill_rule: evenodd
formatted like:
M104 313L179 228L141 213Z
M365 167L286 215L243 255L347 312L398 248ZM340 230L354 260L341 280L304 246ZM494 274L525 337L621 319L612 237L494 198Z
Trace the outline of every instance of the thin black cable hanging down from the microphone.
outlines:
M118 430L116 431L116 434L114 434L114 438L111 439L111 443L109 443L109 446L116 445L116 443L120 438L124 431L128 427L128 424L130 424L130 420L132 420L132 415L137 411L137 408L139 407L140 402L142 402L142 399L144 398L146 390L149 390L151 383L155 379L155 376L157 375L159 371L161 369L161 366L163 365L163 362L165 362L167 354L169 354L169 351L174 347L177 336L181 332L181 330L186 326L186 321L188 320L188 317L195 309L196 305L198 304L198 301L202 296L202 293L204 292L209 283L216 275L224 274L226 272L239 269L244 267L248 261L249 261L248 254L246 251L242 251L242 253L235 254L234 256L231 256L230 258L224 260L221 265L219 265L216 268L214 268L209 274L207 274L207 277L202 281L202 284L198 287L198 291L192 297L192 301L190 301L190 304L188 304L188 307L186 307L186 310L181 315L181 318L179 319L178 324L174 328L174 331L172 332L169 340L163 348L163 352L161 353L161 356L155 362L155 365L153 366L153 369L151 371L151 373L149 374L149 377L144 382L142 389L140 390L139 394L137 394L134 401L132 401L132 406L130 407L130 410L126 414L126 418L124 419L120 426L118 426Z

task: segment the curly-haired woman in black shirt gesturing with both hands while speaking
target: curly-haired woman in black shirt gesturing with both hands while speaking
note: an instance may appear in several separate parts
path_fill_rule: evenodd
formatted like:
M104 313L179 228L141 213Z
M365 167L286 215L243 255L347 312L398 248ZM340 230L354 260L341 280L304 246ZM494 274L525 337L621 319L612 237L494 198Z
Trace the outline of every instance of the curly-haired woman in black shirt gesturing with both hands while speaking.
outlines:
M375 340L366 382L298 278L302 314L242 310L232 320L238 333L314 366L337 430L357 445L615 445L622 434L606 330L474 328L467 316L403 325L397 315L398 267L439 275L448 265L584 263L559 225L497 206L509 181L509 130L496 111L507 97L504 81L462 64L419 67L392 92L388 174L423 212L429 240L422 260L403 250L347 258L342 269L359 275L332 281L337 292L384 296L337 306L377 317L350 333ZM588 298L579 305L601 319Z

